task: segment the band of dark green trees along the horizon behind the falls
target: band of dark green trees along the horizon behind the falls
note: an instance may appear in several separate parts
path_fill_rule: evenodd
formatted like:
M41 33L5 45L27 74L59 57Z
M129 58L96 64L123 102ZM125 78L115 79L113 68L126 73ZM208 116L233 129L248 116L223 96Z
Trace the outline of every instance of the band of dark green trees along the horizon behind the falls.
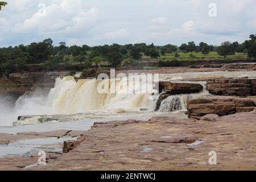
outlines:
M100 63L106 62L109 67L116 68L123 60L140 60L142 56L149 56L157 59L160 55L174 53L179 57L179 52L202 52L208 55L211 51L217 51L218 55L227 57L236 52L247 53L248 57L256 58L256 35L250 35L250 40L244 43L224 42L221 46L212 46L201 42L198 46L195 42L181 44L180 47L167 44L165 46L138 44L112 44L104 46L89 47L83 46L68 47L65 42L60 42L58 46L53 46L52 39L46 39L39 43L31 43L27 46L23 44L14 47L0 48L0 75L8 75L13 72L14 65L19 69L27 64L45 64L48 69L54 70L59 64L83 64L85 68L98 67Z

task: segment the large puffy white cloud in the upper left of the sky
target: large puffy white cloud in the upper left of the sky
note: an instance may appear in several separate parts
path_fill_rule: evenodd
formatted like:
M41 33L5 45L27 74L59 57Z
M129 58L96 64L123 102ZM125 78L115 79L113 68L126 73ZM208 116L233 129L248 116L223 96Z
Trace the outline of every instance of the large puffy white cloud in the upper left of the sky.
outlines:
M89 10L81 9L81 1L64 0L59 4L53 3L46 7L46 16L39 14L39 11L24 20L17 23L14 31L38 31L41 34L47 32L85 31L93 26L98 20L98 10L92 7Z

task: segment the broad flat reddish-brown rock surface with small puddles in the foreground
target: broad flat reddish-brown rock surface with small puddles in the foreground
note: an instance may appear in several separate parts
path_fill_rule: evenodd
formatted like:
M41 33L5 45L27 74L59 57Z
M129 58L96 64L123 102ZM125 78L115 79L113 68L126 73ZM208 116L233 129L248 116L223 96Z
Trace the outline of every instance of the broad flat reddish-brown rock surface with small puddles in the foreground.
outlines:
M95 123L67 154L49 157L46 166L19 169L255 170L256 111L214 119L155 117ZM208 162L210 151L217 154L216 165ZM14 159L0 159L0 163L5 166L9 160Z

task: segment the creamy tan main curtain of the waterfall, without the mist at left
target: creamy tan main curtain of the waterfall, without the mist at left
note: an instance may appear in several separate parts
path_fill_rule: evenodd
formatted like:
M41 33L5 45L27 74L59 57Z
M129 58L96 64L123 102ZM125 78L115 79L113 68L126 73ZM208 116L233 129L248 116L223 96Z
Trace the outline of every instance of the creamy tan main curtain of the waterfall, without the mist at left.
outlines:
M99 93L98 84L100 82L98 80L78 80L76 82L72 77L57 78L55 88L49 92L48 96L53 113L75 114L116 109L139 111L151 102L148 100L148 93Z

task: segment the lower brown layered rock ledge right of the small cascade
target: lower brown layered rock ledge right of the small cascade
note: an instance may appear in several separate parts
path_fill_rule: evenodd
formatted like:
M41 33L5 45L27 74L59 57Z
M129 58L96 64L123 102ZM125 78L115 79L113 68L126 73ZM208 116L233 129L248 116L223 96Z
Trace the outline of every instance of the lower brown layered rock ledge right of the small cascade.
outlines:
M187 101L188 117L200 119L207 114L218 116L243 113L256 109L256 97L240 98L213 96Z

